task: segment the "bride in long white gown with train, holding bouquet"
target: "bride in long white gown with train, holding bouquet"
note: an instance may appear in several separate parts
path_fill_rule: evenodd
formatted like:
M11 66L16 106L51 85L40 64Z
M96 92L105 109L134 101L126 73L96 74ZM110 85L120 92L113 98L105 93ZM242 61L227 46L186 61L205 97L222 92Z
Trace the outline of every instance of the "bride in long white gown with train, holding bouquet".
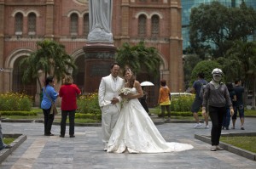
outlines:
M131 93L121 94L123 107L109 138L108 152L161 153L192 149L190 144L166 143L137 99L143 96L140 83L130 69L125 70L124 76L125 87L131 88Z

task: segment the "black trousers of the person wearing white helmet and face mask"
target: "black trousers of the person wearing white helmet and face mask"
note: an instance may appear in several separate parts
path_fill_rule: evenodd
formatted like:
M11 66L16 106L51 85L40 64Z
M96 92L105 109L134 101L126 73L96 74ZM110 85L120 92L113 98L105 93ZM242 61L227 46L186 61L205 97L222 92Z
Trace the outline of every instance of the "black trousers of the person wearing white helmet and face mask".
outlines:
M226 114L226 107L209 106L209 115L212 121L211 141L212 145L219 144L222 122Z

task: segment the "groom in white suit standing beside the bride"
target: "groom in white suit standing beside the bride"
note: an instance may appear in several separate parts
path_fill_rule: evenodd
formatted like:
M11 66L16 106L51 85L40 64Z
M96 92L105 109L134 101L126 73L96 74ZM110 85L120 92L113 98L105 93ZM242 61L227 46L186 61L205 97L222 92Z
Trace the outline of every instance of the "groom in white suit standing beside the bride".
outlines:
M111 65L111 74L102 77L99 87L99 105L102 110L102 133L104 150L108 149L108 139L113 132L113 127L119 118L121 109L119 90L124 87L124 79L119 77L120 66L118 63Z

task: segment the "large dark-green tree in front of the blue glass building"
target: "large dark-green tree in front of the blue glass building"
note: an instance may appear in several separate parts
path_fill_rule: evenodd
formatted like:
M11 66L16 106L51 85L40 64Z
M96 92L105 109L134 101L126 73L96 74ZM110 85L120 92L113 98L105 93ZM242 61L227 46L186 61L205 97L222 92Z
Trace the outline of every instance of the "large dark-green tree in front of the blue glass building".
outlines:
M223 57L238 39L247 41L256 29L256 11L247 8L228 8L217 1L192 8L190 15L190 44L195 54Z

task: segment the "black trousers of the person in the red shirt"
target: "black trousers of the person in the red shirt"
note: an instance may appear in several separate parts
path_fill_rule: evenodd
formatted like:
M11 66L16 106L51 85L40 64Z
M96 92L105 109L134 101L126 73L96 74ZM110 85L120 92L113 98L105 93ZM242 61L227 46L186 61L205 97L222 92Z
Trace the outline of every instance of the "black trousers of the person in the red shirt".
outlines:
M67 115L69 118L69 135L74 135L74 116L76 110L61 110L61 136L65 136Z

